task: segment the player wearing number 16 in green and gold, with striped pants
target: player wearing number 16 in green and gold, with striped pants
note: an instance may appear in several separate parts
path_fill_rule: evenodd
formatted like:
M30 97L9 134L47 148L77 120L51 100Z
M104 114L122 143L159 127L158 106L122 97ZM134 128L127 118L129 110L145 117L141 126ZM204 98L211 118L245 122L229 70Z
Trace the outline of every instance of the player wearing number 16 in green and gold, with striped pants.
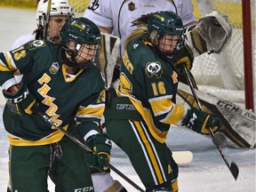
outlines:
M213 132L220 128L216 116L175 103L181 66L190 69L193 62L182 34L178 15L155 12L148 28L128 36L117 97L104 114L108 134L148 192L178 191L178 165L164 142L171 124L203 134L209 134L208 126Z

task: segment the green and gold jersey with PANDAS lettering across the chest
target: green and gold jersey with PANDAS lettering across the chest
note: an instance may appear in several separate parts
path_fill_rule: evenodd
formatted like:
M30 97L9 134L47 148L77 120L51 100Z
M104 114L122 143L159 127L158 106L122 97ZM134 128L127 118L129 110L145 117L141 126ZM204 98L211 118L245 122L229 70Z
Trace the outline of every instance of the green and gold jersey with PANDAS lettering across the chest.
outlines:
M41 112L71 131L82 135L97 130L105 108L104 80L92 65L68 76L61 60L61 47L41 40L29 42L11 52L0 53L0 84L15 84L14 75L36 96ZM36 114L19 116L4 108L4 127L12 145L45 145L61 140L63 133Z

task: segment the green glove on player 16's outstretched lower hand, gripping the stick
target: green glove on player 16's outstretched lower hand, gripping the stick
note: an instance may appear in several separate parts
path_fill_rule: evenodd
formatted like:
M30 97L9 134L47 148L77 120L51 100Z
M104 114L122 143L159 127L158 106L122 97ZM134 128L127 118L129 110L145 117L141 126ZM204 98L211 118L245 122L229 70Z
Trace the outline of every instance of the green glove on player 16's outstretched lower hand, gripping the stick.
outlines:
M183 119L181 125L202 134L210 134L208 127L212 128L212 132L220 129L220 119L214 114L208 114L197 108L188 109L188 113Z

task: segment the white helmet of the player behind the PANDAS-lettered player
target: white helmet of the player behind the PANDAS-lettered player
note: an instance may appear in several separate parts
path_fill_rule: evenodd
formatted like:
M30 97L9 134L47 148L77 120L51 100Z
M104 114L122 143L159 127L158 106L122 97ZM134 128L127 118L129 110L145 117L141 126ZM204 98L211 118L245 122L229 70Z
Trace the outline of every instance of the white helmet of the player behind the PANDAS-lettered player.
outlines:
M48 0L40 0L37 4L36 23L44 27L44 20L47 14ZM69 15L74 16L72 6L68 0L52 0L50 16Z

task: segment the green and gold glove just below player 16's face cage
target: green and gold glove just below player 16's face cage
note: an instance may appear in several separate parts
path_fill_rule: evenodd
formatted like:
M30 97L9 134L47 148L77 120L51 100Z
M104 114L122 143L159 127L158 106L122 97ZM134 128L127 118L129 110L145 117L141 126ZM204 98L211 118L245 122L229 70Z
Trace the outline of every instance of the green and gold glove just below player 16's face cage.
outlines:
M174 66L178 69L178 72L183 74L183 66L185 66L188 70L192 68L194 54L188 45L186 45L179 52L177 52L177 56L174 57L173 61Z

